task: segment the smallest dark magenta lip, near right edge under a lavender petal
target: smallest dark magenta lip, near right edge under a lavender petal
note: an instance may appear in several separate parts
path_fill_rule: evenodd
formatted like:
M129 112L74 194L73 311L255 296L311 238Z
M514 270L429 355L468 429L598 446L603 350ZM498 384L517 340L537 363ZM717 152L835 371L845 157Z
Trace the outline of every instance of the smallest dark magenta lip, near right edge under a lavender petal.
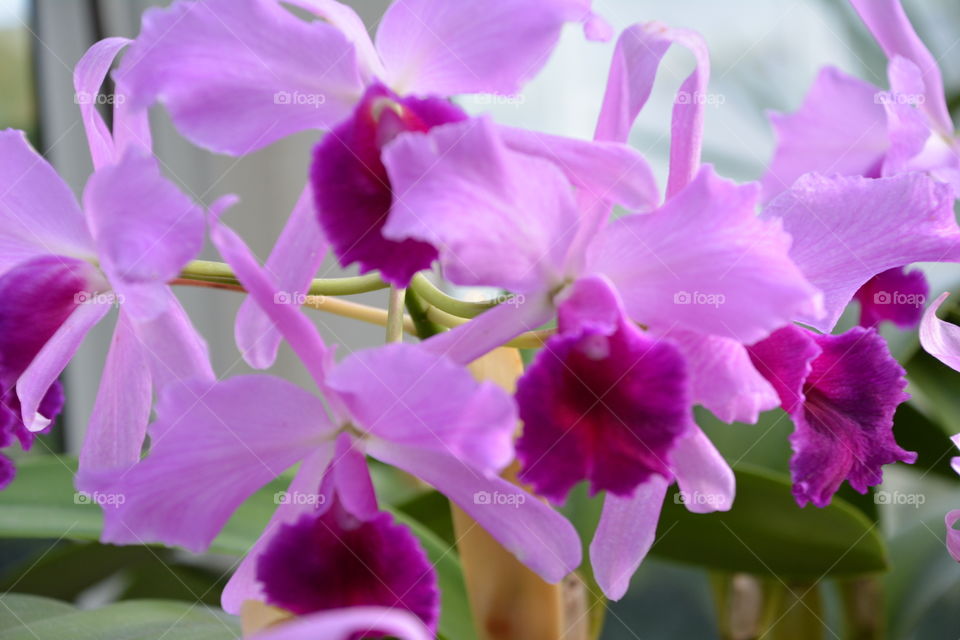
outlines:
M920 323L929 294L923 271L901 267L870 278L853 297L860 303L860 326L875 327L887 320L911 329Z

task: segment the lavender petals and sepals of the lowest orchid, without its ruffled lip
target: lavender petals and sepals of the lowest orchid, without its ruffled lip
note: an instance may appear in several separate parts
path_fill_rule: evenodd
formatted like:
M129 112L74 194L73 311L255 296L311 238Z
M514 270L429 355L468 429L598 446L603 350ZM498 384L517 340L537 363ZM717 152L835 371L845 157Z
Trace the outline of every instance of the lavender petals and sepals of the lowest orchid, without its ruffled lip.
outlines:
M315 495L332 474L343 507L369 521L377 513L370 455L436 487L544 579L556 582L580 563L572 525L497 475L513 457L517 421L504 391L415 345L369 349L334 365L316 327L277 302L275 283L239 236L214 222L212 237L320 397L265 375L199 380L162 395L154 446L118 481L124 504L105 510L105 541L204 549L250 494L298 462L291 492ZM484 492L510 499L476 499ZM224 592L227 611L263 598L255 569L270 532L312 508L278 508Z

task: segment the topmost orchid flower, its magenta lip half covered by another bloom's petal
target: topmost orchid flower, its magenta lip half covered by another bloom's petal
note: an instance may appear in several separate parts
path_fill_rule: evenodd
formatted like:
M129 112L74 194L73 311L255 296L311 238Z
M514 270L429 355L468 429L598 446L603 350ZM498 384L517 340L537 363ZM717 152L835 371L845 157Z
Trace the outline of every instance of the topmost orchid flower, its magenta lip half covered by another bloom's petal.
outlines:
M468 120L448 100L514 94L545 64L568 22L592 39L608 27L590 0L397 0L376 44L360 18L333 0L180 0L144 14L118 71L133 104L159 99L191 141L243 155L290 134L327 131L310 184L267 266L287 291L314 276L327 243L343 266L379 269L406 286L437 248L385 232L396 192L382 153L408 132ZM588 143L503 128L512 148L546 157L596 198L649 208L651 170L620 144ZM310 218L315 206L319 227ZM321 234L321 228L323 233ZM279 335L248 301L237 324L240 350L256 368L276 357Z

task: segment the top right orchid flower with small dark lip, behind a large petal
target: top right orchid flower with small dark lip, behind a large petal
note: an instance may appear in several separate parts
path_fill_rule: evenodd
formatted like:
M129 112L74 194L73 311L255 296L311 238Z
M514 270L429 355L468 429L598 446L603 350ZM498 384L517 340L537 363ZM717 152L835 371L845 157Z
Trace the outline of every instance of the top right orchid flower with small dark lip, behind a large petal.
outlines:
M900 0L851 2L890 61L890 90L834 67L821 71L799 111L772 117L779 144L763 179L765 199L809 172L867 178L922 172L960 194L960 140L936 59ZM860 324L915 327L928 293L921 271L901 264L876 272L856 295Z

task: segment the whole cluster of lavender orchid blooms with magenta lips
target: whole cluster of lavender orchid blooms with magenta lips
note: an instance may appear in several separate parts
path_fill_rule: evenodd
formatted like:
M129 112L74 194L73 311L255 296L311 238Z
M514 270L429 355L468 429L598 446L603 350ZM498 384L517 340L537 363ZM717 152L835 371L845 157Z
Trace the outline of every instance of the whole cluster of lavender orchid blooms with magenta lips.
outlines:
M825 69L797 112L775 117L774 159L750 184L701 165L710 67L690 31L643 23L619 35L592 141L470 117L451 99L516 94L570 23L612 39L590 0L396 0L375 42L334 0L148 11L139 37L99 42L76 68L77 91L96 94L126 49L112 130L80 105L95 167L81 204L22 132L0 133L0 445L27 448L50 428L59 375L114 306L98 302L118 302L78 488L125 497L104 509L104 541L202 551L299 464L290 491L323 499L279 506L223 594L232 613L253 600L302 616L264 635L275 639L435 632L436 577L379 509L367 456L435 487L550 582L581 563L573 526L546 501L474 496L526 496L500 477L514 458L554 505L585 481L605 494L589 562L612 599L650 549L674 481L715 497L691 510L733 504L734 474L695 405L745 423L782 407L799 505L827 505L844 481L867 491L884 465L915 459L893 437L905 372L876 325L921 323L921 305L888 299L927 294L907 265L960 260L960 141L898 0L852 2L890 86ZM672 44L696 67L673 107L661 196L626 143ZM163 177L155 102L190 141L234 156L325 132L265 265L221 220L232 197L205 208ZM208 230L249 294L236 321L246 361L269 368L286 340L315 389L217 378L170 288ZM450 283L516 304L338 362L299 307L278 303L309 288L328 249L397 288L439 266ZM960 328L935 316L945 296L920 337L960 370ZM831 333L854 299L861 326ZM466 369L554 319L514 397ZM0 456L0 486L14 474ZM960 561L958 519L947 526Z

